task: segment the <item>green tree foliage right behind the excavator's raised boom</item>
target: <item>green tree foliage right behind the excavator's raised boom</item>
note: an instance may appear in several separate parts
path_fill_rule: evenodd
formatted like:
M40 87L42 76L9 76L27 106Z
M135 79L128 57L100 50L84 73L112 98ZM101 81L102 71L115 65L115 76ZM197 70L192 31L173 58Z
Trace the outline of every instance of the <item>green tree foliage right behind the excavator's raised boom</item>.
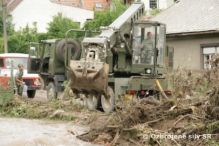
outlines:
M98 30L100 26L108 26L125 10L126 6L120 0L114 0L112 9L95 11L94 19L86 22L84 28L87 30Z

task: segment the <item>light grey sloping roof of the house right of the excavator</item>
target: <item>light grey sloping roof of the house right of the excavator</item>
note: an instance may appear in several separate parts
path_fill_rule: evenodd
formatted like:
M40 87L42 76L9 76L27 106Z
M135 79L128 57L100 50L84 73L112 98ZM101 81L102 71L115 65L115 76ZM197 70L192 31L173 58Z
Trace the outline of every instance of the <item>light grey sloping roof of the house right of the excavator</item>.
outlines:
M152 20L165 23L167 34L219 31L218 0L180 0Z

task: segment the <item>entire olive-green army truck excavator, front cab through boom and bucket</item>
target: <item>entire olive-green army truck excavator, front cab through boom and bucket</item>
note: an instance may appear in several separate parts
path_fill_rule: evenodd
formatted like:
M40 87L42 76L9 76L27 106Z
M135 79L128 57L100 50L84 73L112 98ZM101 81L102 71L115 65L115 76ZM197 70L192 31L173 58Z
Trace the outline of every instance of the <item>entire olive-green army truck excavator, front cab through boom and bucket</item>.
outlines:
M106 113L114 110L117 97L164 93L169 54L165 25L143 16L144 4L134 3L99 35L81 43L69 38L43 41L38 47L43 51L32 48L41 55L32 55L30 71L40 73L48 98L63 90L67 79L90 110L101 105Z

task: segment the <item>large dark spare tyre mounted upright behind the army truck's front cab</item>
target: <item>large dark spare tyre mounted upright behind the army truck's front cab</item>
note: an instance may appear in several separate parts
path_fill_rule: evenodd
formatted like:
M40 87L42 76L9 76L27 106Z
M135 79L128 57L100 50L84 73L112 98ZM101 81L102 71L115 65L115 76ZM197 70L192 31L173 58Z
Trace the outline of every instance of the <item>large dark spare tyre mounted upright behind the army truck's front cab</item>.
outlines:
M67 43L67 48L71 49L71 56L73 60L78 60L80 59L81 56L81 45L78 41L73 40L73 39L68 39L67 42L65 39L61 40L57 44L56 48L56 57L57 59L64 63L65 62L65 45Z

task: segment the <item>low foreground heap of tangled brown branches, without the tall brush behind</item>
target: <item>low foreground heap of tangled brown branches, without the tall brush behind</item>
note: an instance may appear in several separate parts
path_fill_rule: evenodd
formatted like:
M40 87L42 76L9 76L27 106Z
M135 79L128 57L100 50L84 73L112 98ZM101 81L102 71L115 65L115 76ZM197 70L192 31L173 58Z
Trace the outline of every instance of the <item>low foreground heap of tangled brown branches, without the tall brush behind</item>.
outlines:
M207 99L152 101L142 99L108 118L97 118L79 138L110 145L207 145L219 140L214 135L219 133L219 117L207 113Z

